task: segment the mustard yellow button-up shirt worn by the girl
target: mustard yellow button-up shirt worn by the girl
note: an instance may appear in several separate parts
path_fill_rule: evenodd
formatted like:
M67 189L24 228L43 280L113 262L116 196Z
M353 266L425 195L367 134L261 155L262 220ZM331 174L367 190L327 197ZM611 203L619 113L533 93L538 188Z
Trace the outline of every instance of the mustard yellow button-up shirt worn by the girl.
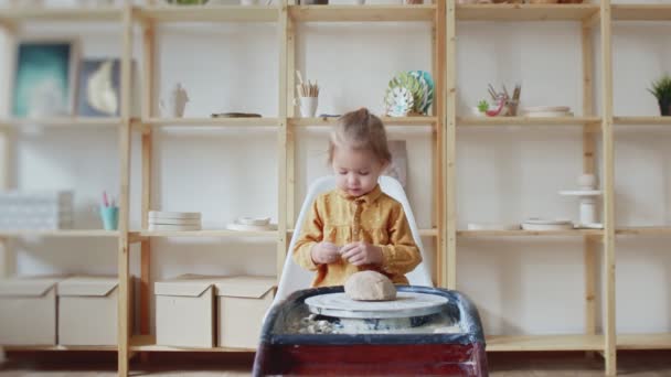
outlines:
M375 270L394 283L407 284L405 273L422 261L403 205L375 186L370 193L352 197L341 190L320 194L306 215L300 237L292 250L294 260L317 271L312 287L342 286L354 272ZM345 259L316 265L310 250L321 241L337 246L365 241L382 248L381 266L354 266Z

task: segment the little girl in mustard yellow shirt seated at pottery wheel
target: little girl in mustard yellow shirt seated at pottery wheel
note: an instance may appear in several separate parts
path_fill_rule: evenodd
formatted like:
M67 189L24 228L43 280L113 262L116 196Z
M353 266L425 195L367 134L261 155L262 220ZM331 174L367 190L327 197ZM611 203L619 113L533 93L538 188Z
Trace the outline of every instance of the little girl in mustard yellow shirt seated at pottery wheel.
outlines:
M299 266L317 271L312 287L342 286L364 270L408 283L405 273L422 255L403 205L377 184L391 159L380 118L365 108L340 117L329 140L338 188L315 200L291 250Z

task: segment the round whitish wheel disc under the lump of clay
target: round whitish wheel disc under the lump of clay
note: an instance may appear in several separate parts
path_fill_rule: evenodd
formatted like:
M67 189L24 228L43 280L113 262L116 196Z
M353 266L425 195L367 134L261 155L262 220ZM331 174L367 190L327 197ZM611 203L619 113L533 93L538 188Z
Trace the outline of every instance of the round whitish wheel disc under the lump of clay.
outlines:
M310 312L344 319L400 319L440 312L447 299L437 294L397 292L393 301L355 301L344 293L306 299Z

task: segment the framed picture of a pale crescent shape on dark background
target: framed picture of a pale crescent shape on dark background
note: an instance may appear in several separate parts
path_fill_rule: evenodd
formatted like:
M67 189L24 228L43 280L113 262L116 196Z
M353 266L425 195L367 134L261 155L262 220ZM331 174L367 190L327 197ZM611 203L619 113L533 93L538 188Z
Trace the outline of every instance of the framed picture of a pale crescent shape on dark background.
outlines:
M118 58L86 58L79 65L77 115L118 117L121 62Z

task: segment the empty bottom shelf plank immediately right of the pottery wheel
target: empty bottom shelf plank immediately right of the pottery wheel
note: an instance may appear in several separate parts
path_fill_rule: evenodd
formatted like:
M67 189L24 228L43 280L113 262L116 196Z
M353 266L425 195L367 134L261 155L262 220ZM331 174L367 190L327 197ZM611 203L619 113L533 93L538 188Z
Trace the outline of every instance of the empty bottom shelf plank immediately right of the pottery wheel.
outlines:
M603 351L603 335L490 335L488 352L507 351Z

